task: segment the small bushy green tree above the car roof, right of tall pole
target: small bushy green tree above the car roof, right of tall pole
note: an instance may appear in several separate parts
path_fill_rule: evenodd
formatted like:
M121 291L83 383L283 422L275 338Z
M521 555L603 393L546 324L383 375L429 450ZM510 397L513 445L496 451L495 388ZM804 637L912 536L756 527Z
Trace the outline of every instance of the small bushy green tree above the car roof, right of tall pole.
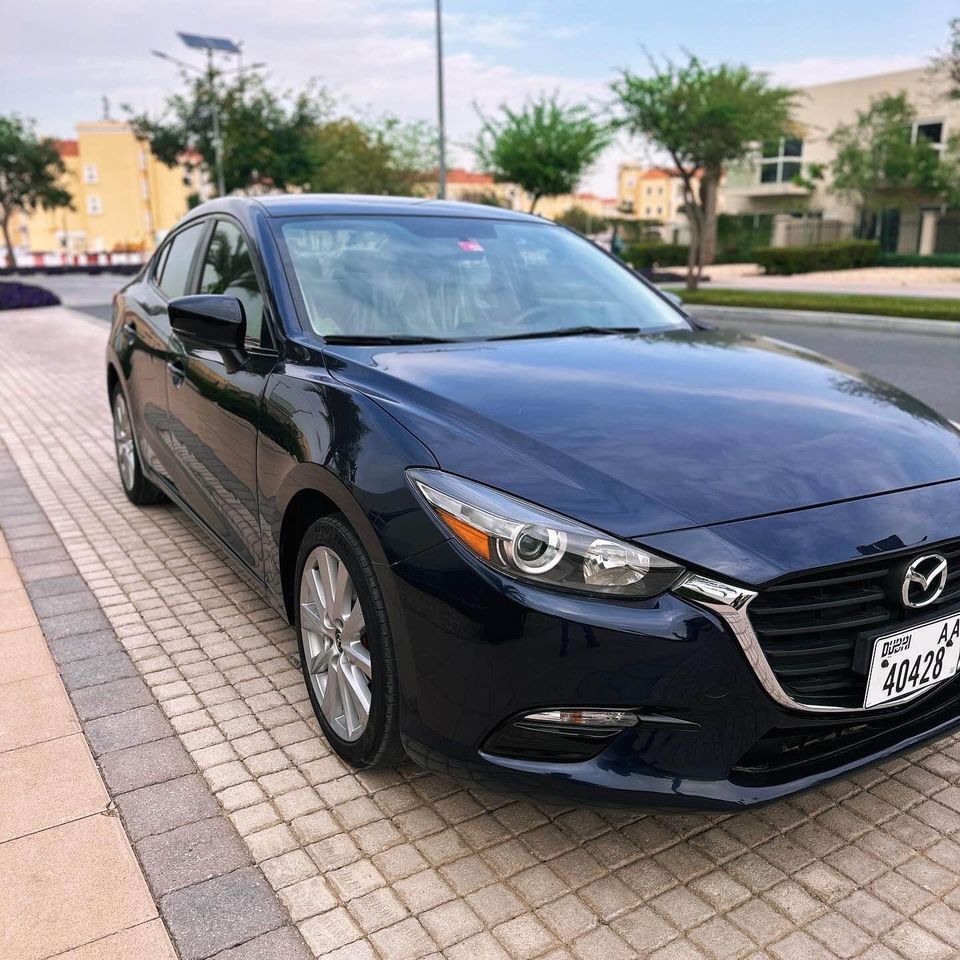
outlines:
M608 123L585 104L563 105L541 95L522 110L504 105L498 117L480 114L474 151L481 167L501 183L515 183L533 198L573 193L612 139Z

